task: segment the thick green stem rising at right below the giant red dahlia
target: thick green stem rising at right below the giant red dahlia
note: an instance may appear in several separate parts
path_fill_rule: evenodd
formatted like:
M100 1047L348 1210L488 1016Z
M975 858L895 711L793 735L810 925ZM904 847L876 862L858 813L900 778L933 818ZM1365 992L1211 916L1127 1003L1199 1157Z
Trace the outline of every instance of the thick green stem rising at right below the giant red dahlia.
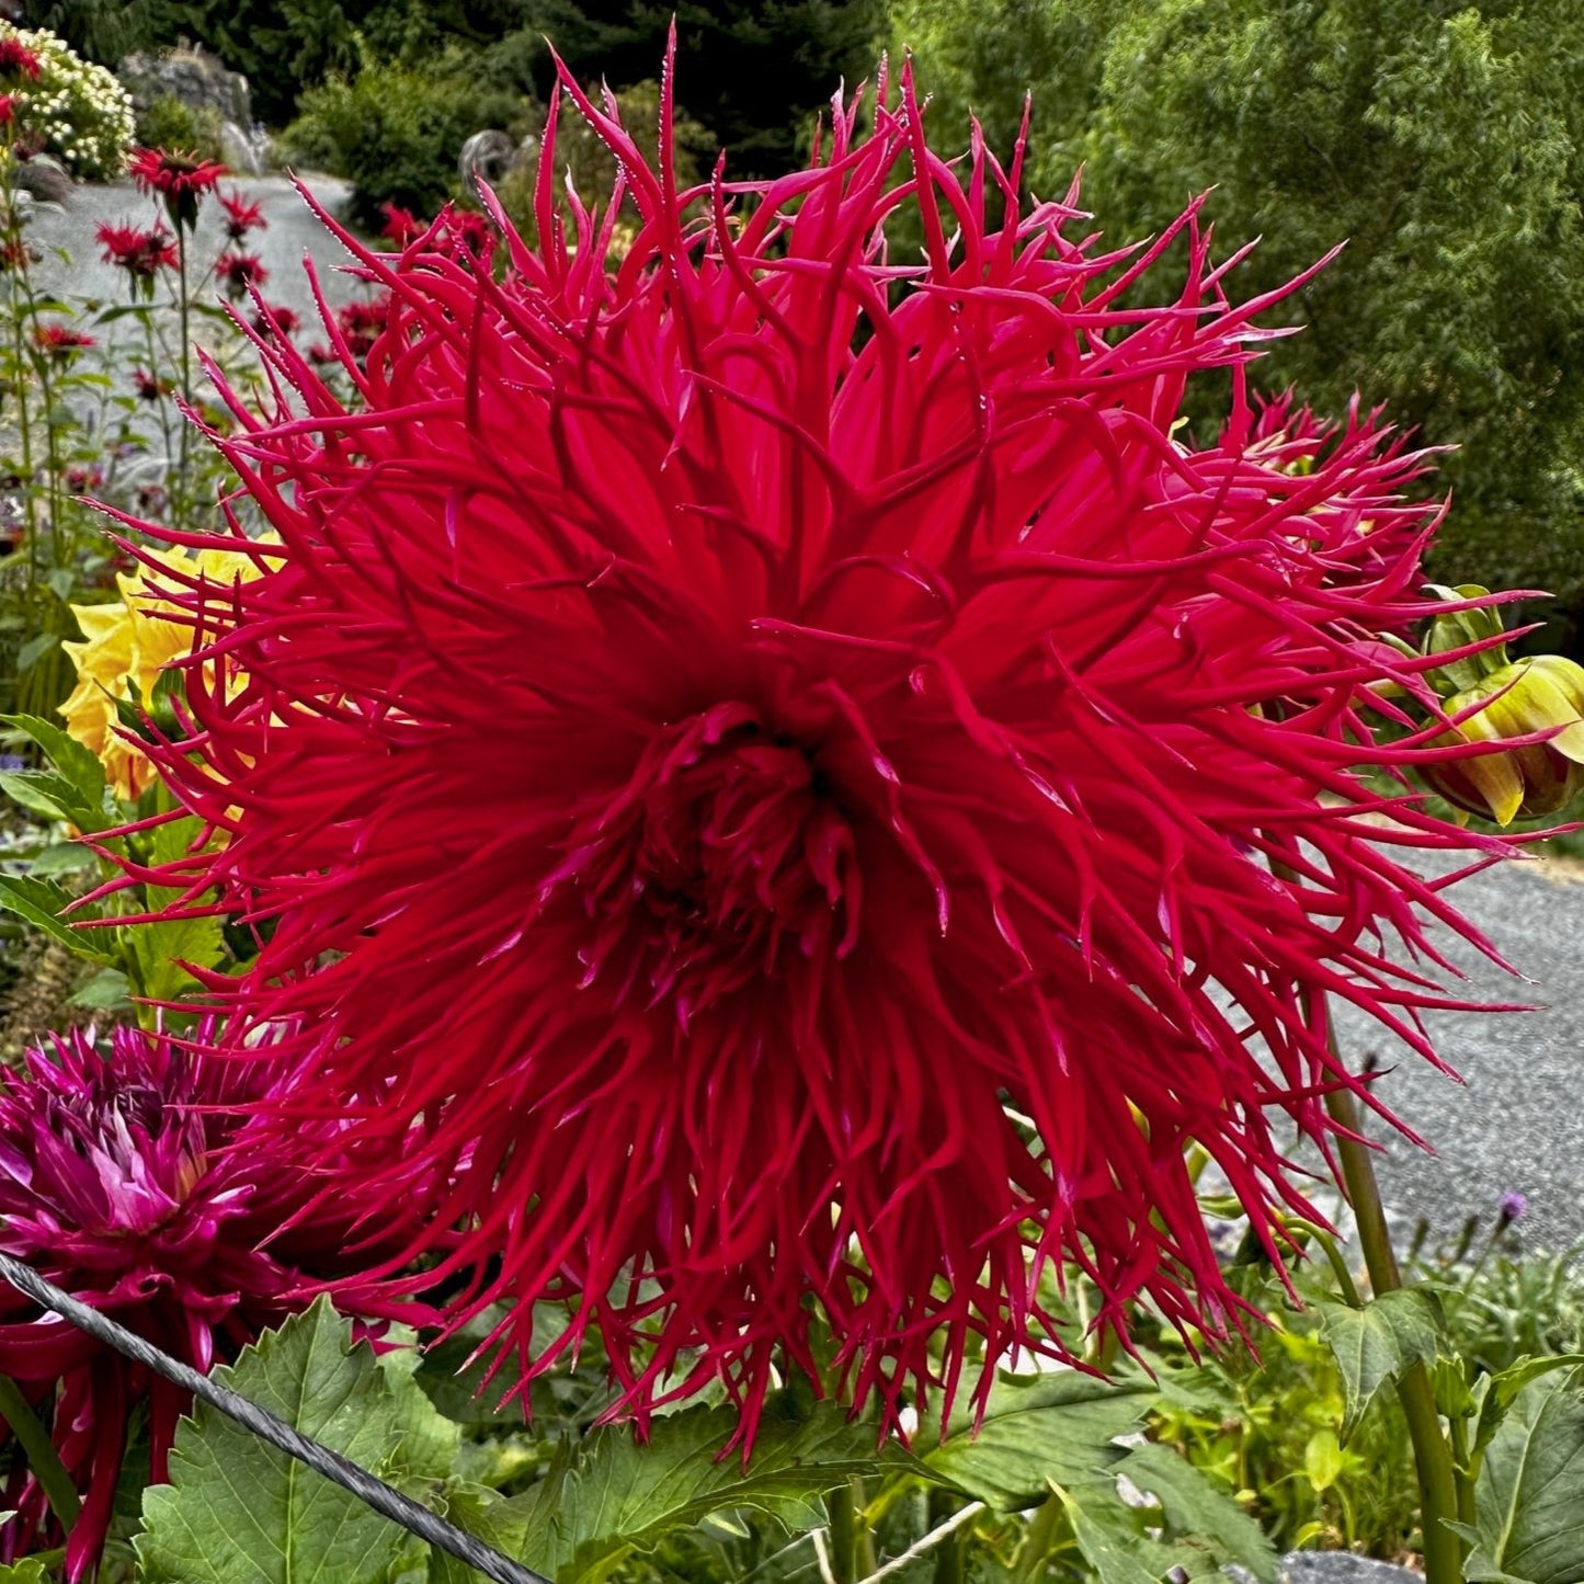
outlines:
M1338 1128L1348 1134L1361 1131L1359 1107L1351 1091L1334 1090L1326 1098L1326 1110ZM1391 1245L1386 1226L1386 1209L1381 1204L1380 1182L1367 1145L1356 1137L1338 1137L1337 1155L1342 1161L1342 1180L1353 1205L1353 1218L1359 1229L1359 1248L1364 1251L1364 1267L1370 1274L1375 1296L1396 1293L1402 1285L1402 1267ZM1424 1533L1426 1584L1462 1584L1464 1559L1457 1535L1446 1527L1445 1519L1457 1517L1457 1481L1453 1470L1453 1449L1441 1432L1441 1419L1435 1411L1435 1392L1430 1388L1429 1370L1419 1362L1410 1365L1397 1381L1397 1397L1403 1418L1408 1421L1408 1438L1413 1441L1413 1462L1419 1476L1419 1527Z

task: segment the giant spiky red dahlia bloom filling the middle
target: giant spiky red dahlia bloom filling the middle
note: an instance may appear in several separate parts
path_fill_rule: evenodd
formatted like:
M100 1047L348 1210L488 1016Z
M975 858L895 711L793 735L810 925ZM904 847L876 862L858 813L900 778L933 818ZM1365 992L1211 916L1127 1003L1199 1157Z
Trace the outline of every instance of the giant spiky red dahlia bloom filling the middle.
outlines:
M279 342L301 410L231 396L280 550L181 596L220 637L155 752L231 833L168 882L277 917L233 1030L295 1030L291 1104L350 1118L409 1253L464 1228L455 1316L515 1297L532 1369L597 1323L640 1415L719 1378L751 1437L811 1299L887 1419L969 1357L987 1391L1080 1345L1057 1256L1109 1324L1223 1331L1185 1145L1274 1248L1275 1125L1367 1093L1321 998L1430 1057L1451 1003L1391 942L1476 938L1391 854L1506 851L1357 817L1354 767L1422 751L1370 730L1416 664L1375 635L1429 608L1419 459L1354 421L1272 461L1240 396L1174 440L1272 299L1226 301L1193 212L1107 255L1020 217L1022 150L960 181L906 81L695 192L572 92L642 217L619 269L615 204L556 219L553 109L504 280L345 238L390 293L366 367L331 331L352 412ZM1129 306L1178 241L1180 296ZM573 1307L535 1356L537 1299Z

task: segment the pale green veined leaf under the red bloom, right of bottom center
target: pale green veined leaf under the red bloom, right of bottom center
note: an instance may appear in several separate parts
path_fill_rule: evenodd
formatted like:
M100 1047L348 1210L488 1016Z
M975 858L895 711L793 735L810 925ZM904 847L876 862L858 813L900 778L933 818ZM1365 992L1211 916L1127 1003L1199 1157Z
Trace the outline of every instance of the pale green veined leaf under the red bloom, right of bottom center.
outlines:
M1071 1487L1126 1456L1114 1445L1137 1430L1158 1392L1115 1386L1077 1370L1003 1375L979 1434L971 1410L923 1453L927 1468L1003 1513L1039 1502L1052 1483Z

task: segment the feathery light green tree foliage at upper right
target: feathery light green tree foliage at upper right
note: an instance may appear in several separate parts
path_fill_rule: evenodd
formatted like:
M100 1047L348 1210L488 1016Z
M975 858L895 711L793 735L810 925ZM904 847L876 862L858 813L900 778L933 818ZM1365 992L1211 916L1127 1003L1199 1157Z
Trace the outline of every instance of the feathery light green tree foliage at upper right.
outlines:
M1031 185L1074 169L1112 236L1215 188L1243 293L1334 244L1256 372L1340 412L1384 401L1454 510L1437 572L1543 588L1584 632L1584 13L1568 0L898 0L931 114L993 144L1034 97ZM1207 407L1209 410L1209 407Z

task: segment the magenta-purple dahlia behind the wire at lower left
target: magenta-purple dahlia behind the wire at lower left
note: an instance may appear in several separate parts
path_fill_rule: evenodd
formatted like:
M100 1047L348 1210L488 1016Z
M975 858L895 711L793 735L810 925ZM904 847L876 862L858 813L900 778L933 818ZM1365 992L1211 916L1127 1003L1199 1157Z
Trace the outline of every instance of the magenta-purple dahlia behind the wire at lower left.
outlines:
M247 1134L236 1109L282 1079L277 1063L193 1057L133 1028L116 1030L108 1058L84 1034L32 1053L25 1072L0 1074L0 1248L200 1370L234 1356L299 1305L303 1266L344 1267L345 1213L260 1248L309 1199L279 1134ZM0 1372L51 1426L82 1494L67 1543L74 1584L105 1544L128 1416L147 1403L149 1478L162 1481L188 1399L10 1286ZM60 1543L22 1462L5 1503L17 1510L0 1532L8 1560Z

